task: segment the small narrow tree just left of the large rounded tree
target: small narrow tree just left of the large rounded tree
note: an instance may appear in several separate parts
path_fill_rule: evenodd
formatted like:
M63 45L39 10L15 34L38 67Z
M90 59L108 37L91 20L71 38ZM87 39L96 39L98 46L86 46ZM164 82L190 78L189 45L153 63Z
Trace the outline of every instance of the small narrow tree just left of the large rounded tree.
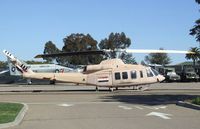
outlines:
M44 47L44 54L53 54L53 53L59 53L60 50L56 47L56 45L52 42L52 41L48 41L45 43L45 47ZM59 57L57 58L53 58L53 57L44 57L44 59L48 62L48 63L52 63L55 59L56 61L59 63Z

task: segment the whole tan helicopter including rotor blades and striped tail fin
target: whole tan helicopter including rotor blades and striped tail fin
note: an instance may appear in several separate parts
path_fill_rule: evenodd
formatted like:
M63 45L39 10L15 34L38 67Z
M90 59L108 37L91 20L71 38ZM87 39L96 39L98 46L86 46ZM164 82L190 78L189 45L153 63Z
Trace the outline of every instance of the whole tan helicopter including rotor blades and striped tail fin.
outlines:
M88 53L102 54L111 50L99 50L90 52L78 52L84 55ZM119 51L119 50L118 50ZM126 52L136 53L190 53L189 51L175 51L175 50L120 50ZM66 83L76 83L84 85L93 85L98 87L113 88L130 87L138 85L146 85L163 81L165 78L156 70L143 65L124 64L121 59L108 59L102 61L98 65L87 65L82 73L35 73L29 69L25 64L15 58L10 52L4 50L11 62L16 66L25 78L32 79L47 79L53 82L60 81ZM40 57L65 56L73 55L74 52L37 55ZM76 52L77 54L77 52Z

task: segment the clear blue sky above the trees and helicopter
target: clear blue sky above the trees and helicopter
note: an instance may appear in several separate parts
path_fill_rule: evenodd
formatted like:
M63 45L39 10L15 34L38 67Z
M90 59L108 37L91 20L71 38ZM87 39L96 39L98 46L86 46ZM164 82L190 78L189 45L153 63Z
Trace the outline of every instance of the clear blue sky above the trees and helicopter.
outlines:
M188 50L199 46L189 35L199 7L195 0L0 0L0 51L33 60L47 41L61 49L71 33L100 42L111 32L124 32L130 49ZM145 55L133 54L138 63ZM170 57L172 64L186 61L184 54Z

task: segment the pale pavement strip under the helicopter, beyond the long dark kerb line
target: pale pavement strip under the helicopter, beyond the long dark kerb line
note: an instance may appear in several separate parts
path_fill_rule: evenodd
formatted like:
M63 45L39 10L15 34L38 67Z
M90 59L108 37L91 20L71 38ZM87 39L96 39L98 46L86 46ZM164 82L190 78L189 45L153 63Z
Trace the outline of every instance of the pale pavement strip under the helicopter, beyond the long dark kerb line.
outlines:
M150 86L144 86L148 87L149 90L158 90L158 91L163 91L163 90L200 90L200 83L157 83L157 84L152 84ZM94 91L96 87L94 86L84 86L84 85L74 85L74 84L65 84L65 83L59 83L56 85L48 85L48 84L35 84L35 85L26 85L26 84L0 84L0 92L39 92L39 91ZM132 90L132 87L126 87L126 88L119 88L121 90ZM100 91L108 91L108 88L100 87Z

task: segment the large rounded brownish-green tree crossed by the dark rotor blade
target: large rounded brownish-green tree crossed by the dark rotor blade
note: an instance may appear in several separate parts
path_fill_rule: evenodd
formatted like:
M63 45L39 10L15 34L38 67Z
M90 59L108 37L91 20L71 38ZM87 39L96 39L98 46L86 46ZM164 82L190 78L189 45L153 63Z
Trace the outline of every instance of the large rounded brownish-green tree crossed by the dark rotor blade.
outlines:
M97 41L94 40L89 34L71 34L70 36L65 37L63 42L63 52L98 50ZM79 55L66 57L67 63L74 65L96 64L100 63L101 60L101 55Z

